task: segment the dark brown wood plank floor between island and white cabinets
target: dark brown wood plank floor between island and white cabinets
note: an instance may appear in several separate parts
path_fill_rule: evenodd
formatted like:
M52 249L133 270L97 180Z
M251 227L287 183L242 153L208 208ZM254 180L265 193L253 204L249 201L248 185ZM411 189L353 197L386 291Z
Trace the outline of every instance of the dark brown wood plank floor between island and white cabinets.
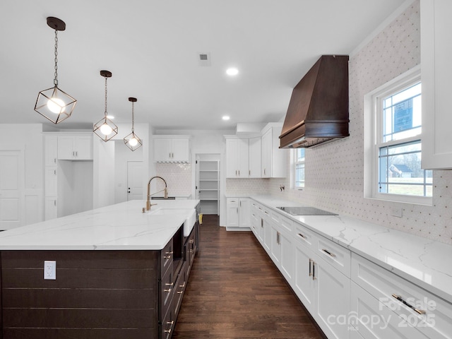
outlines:
M252 232L204 215L174 339L324 338Z

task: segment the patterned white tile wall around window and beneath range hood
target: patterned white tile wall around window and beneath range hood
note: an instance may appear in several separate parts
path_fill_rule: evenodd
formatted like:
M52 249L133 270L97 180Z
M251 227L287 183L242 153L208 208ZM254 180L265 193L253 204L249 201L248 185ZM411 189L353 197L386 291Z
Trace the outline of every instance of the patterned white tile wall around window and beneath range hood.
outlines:
M254 179L252 187L241 181L231 190L228 182L228 193L254 193L266 187L268 194L281 198L452 244L452 171L434 171L433 206L364 198L364 95L417 64L419 1L350 57L350 137L307 149L305 189L290 189L285 179L286 189L281 192L282 179ZM402 208L402 218L390 215L390 206Z

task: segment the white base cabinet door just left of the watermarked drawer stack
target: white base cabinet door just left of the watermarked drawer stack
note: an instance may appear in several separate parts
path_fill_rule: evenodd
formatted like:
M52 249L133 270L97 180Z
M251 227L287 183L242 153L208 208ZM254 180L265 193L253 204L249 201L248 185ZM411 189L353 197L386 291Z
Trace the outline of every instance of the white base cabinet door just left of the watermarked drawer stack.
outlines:
M313 274L317 304L314 319L323 323L321 328L324 328L323 332L328 338L348 338L349 325L346 321L340 321L338 316L347 317L350 314L350 278L319 256L314 256Z

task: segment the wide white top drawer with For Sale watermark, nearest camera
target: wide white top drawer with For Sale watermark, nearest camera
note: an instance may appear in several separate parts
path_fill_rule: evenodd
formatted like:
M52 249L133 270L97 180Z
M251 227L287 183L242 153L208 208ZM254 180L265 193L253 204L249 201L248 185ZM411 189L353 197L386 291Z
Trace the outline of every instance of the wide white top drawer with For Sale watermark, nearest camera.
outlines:
M352 280L428 338L452 338L452 304L352 255Z

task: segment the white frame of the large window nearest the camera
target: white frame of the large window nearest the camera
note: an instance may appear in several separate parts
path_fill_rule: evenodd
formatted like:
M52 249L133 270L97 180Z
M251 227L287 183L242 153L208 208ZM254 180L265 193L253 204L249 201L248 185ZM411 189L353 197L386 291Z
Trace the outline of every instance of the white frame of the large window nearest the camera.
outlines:
M381 119L379 119L382 110L381 98L388 97L420 81L421 69L420 66L415 66L410 71L364 95L364 198L432 206L432 197L379 193L379 143L381 139L379 132L382 131ZM422 135L391 143L405 143L410 140L421 140L422 145Z

